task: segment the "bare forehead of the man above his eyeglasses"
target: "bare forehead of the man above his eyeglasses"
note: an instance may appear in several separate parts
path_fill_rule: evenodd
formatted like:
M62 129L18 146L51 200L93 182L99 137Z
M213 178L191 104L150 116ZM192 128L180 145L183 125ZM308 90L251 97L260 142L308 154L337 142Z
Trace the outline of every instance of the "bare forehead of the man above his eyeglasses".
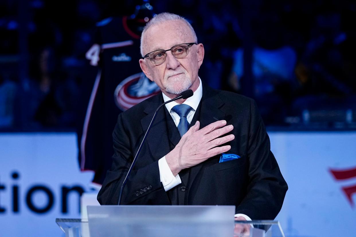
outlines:
M148 53L158 49L169 49L177 44L190 43L192 38L192 32L186 23L173 20L151 26L146 31L143 43Z

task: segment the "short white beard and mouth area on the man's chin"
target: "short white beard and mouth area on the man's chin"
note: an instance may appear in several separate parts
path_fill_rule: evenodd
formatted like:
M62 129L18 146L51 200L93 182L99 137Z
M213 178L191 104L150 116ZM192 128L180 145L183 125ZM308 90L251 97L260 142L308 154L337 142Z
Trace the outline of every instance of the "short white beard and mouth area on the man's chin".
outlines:
M182 74L177 75L178 73ZM173 75L177 76L171 77ZM188 90L189 87L192 86L192 80L186 72L172 72L164 76L163 86L166 88L168 93L180 95L180 93Z

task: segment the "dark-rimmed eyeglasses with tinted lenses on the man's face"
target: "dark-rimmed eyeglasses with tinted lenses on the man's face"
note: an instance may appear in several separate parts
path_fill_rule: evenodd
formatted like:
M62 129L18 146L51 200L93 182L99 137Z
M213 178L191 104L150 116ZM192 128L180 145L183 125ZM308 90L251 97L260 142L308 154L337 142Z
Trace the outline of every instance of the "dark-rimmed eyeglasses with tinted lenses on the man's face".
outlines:
M151 63L153 64L161 64L163 63L166 58L167 58L167 51L171 50L172 55L176 58L184 58L185 56L188 55L189 53L189 48L197 43L184 43L184 44L177 44L174 45L172 48L164 50L164 49L158 49L155 51L152 51L151 53L146 54L143 59L148 58L150 59Z

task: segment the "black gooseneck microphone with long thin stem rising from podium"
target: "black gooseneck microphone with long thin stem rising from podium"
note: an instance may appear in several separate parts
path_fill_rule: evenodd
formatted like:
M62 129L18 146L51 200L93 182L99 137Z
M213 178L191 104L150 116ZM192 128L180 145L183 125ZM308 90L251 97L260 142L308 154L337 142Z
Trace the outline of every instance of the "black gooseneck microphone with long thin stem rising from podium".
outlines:
M129 178L130 173L131 173L131 171L132 171L132 169L133 169L133 166L135 166L135 163L136 163L136 161L137 161L137 157L138 157L138 155L140 155L140 152L141 152L141 150L142 150L143 143L146 141L147 135L148 135L148 133L149 133L150 130L151 130L153 121L155 121L159 109L160 109L162 106L164 106L165 104L168 104L169 102L176 101L177 99L187 99L187 98L189 98L189 97L191 97L191 96L193 96L193 91L192 91L192 90L183 91L179 96L177 96L176 98L173 98L173 99L171 99L171 100L169 100L169 101L164 102L163 104L161 104L161 105L156 109L156 112L155 112L155 114L153 115L153 118L152 118L152 120L151 120L151 123L150 123L150 125L149 125L148 128L147 128L147 131L146 131L146 133L145 133L145 136L143 136L142 142L141 142L140 146L138 147L138 150L137 150L137 153L136 153L136 155L135 155L135 158L133 158L133 161L132 161L132 164L131 164L131 166L130 166L130 169L129 169L129 171L128 171L127 174L126 174L126 177L125 177L125 179L124 179L124 182L122 183L122 186L121 186L121 189L120 189L120 194L119 194L119 201L117 202L117 205L120 205L121 196L122 196L122 190L124 190L124 187L125 187L126 182L127 182L127 178Z

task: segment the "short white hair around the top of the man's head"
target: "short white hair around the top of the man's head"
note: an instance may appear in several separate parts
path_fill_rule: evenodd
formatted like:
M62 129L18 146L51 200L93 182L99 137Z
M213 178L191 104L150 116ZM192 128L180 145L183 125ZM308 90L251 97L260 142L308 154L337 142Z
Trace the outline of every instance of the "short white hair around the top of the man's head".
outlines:
M162 12L162 13L154 16L149 22L147 22L146 26L143 27L143 31L141 34L141 43L140 43L140 52L141 52L142 57L145 56L143 54L143 38L144 38L145 33L148 30L148 28L150 28L151 26L163 23L165 21L172 21L172 20L180 20L180 21L183 21L185 24L187 24L187 26L189 26L189 28L190 28L190 31L192 32L192 36L194 38L194 43L198 43L197 35L195 34L195 31L194 31L192 25L190 25L190 23L187 20L185 20L184 17L173 14L173 13L169 13L169 12Z

